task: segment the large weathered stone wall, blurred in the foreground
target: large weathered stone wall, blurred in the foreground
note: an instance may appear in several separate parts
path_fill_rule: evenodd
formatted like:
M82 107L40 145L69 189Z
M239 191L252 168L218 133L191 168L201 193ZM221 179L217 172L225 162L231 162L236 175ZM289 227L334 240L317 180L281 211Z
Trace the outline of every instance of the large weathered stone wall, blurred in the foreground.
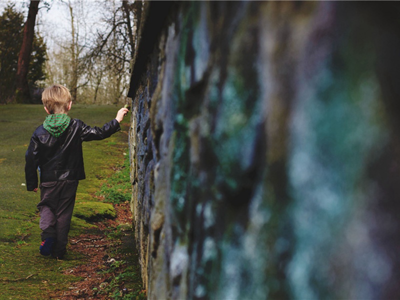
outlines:
M400 5L161 3L129 90L148 298L398 298Z

